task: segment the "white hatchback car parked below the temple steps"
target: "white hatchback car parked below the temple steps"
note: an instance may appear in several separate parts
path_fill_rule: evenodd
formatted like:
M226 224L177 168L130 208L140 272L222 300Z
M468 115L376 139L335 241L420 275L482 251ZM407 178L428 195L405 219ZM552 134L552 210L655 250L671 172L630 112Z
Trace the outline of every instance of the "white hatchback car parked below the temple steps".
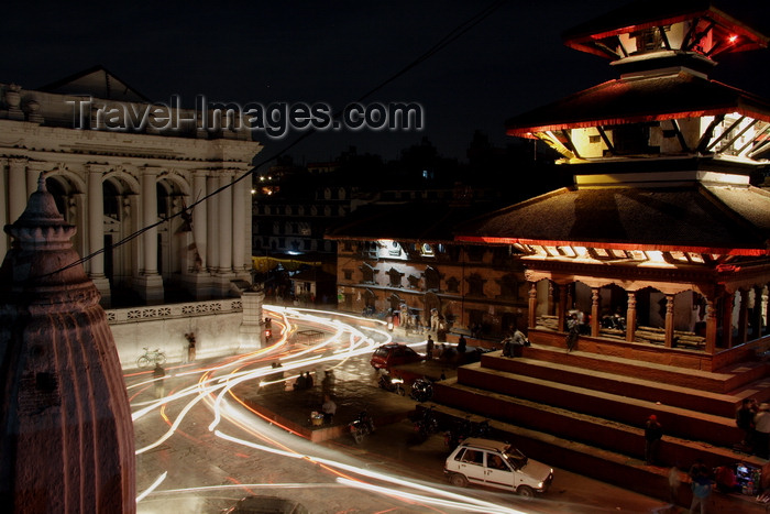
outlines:
M443 472L452 485L477 483L528 497L546 492L553 481L553 468L528 459L507 442L475 437L452 451Z

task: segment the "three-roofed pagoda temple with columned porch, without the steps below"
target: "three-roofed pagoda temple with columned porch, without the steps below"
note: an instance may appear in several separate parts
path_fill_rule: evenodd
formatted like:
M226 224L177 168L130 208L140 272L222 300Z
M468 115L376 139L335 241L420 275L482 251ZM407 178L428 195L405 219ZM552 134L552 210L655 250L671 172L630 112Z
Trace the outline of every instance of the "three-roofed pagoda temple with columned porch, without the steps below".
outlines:
M507 133L556 149L574 185L458 239L521 252L532 341L563 345L553 331L572 311L592 340L582 349L625 341L634 358L711 371L763 348L745 343L768 329L770 195L751 184L770 155L770 102L708 72L768 37L711 2L645 1L564 41L619 78L514 117Z

